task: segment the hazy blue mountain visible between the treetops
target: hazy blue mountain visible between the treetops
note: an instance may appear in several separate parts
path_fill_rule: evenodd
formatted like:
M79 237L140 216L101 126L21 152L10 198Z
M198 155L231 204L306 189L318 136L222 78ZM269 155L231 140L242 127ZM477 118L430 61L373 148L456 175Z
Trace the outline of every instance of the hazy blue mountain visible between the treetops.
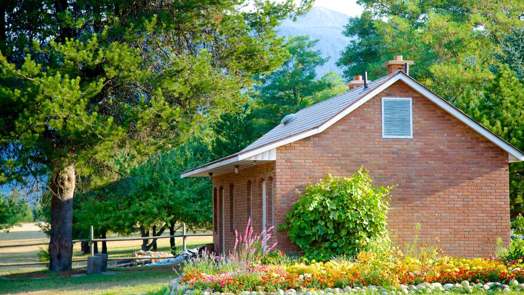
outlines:
M321 77L326 72L334 71L342 76L342 69L335 63L340 58L340 52L350 42L350 38L344 37L342 31L347 24L348 15L334 10L315 6L309 10L308 14L298 17L296 22L286 19L280 25L282 36L301 36L308 35L311 40L318 39L315 49L322 52L323 57L331 57L324 66L317 70Z

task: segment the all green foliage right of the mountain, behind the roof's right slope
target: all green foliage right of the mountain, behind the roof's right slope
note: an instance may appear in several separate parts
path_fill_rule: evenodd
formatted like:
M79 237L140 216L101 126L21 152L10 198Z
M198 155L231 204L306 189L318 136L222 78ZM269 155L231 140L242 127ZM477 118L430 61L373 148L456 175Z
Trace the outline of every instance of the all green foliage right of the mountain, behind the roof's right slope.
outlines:
M344 35L352 41L338 61L345 78L367 70L376 79L386 73L384 61L403 55L415 62L412 77L522 150L521 135L510 133L522 130L522 88L512 77L524 72L524 2L505 1L504 9L499 2L455 0L358 3L364 12L349 19ZM497 76L500 67L509 71ZM500 86L485 89L492 83ZM508 109L504 101L516 103ZM523 179L524 165L510 164L512 204L522 203Z

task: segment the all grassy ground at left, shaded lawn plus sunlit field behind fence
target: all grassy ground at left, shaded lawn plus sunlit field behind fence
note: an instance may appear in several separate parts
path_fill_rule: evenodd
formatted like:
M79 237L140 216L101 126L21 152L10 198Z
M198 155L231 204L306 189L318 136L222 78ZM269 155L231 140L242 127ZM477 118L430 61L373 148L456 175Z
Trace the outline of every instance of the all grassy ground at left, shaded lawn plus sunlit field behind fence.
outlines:
M138 236L138 235L137 235ZM117 237L110 235L108 237ZM23 224L15 227L9 233L0 233L0 245L16 245L45 242L49 239L34 224ZM212 237L188 237L187 247L195 248L212 243ZM107 252L111 256L131 256L133 251L140 249L141 240L111 241L107 243ZM157 240L158 250L169 252L169 239ZM179 250L182 248L182 238L176 238ZM37 251L43 246L27 246L16 248L0 248L0 264L10 262L39 261ZM99 243L99 250L102 244ZM74 244L73 258L83 258L80 244ZM73 268L85 267L86 262L74 262ZM0 267L0 276L13 273L42 271L47 273L47 266L17 266ZM163 294L168 282L177 276L172 266L157 267L125 267L113 268L103 275L56 277L50 274L47 278L17 278L0 277L0 294Z

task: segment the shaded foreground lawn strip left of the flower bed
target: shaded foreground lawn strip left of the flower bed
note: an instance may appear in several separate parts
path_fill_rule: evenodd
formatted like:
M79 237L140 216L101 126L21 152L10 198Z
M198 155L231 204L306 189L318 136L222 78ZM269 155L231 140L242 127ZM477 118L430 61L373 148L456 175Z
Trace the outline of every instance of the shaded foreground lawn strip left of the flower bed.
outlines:
M0 279L0 294L158 294L177 273L169 266L108 269L110 273L79 277Z

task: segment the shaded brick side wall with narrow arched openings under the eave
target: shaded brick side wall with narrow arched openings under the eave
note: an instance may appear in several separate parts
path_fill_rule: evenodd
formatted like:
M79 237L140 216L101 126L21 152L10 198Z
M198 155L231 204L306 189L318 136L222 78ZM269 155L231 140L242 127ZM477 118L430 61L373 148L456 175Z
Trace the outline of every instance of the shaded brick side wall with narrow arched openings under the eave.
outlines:
M241 168L238 174L227 173L213 176L213 192L217 190L217 202L213 203L213 220L217 224L213 226L213 242L216 253L222 252L222 202L224 202L224 224L225 224L225 253L233 249L235 244L234 230L231 230L232 222L239 234L243 234L252 213L252 225L254 234L262 231L262 182L266 181L266 227L271 226L272 220L272 180L275 162L258 164L247 168ZM249 190L249 184L251 190ZM231 206L231 184L233 184L234 205ZM223 198L221 198L220 188L224 188ZM252 202L249 202L249 192L252 195ZM213 196L214 197L214 196ZM223 201L222 201L223 200ZM234 208L234 220L231 208Z

